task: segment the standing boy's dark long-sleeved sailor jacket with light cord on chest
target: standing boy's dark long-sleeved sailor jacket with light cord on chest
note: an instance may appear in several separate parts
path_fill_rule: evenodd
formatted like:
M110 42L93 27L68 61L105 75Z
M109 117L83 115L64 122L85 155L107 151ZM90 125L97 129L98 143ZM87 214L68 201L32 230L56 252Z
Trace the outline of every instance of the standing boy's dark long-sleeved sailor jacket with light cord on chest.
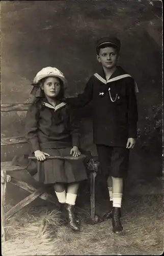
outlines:
M95 144L126 147L128 138L137 137L138 87L121 67L108 81L103 69L95 73L77 97L64 101L83 107L93 101L93 139Z

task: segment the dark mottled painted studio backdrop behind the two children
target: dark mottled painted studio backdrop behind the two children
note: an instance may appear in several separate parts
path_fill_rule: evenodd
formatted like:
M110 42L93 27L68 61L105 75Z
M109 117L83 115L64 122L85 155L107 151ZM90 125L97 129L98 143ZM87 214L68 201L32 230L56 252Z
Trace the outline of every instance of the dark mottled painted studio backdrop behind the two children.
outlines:
M1 103L29 102L33 78L47 66L64 73L67 96L82 92L98 66L96 40L115 34L122 42L119 64L139 87L139 138L130 156L129 182L162 175L161 5L160 1L3 1ZM92 102L79 112L81 146L95 156L91 111ZM2 138L25 135L25 115L2 113ZM2 161L26 152L28 144L2 146ZM25 171L19 179L34 183ZM8 200L24 197L24 191L10 186ZM10 197L13 190L15 199Z

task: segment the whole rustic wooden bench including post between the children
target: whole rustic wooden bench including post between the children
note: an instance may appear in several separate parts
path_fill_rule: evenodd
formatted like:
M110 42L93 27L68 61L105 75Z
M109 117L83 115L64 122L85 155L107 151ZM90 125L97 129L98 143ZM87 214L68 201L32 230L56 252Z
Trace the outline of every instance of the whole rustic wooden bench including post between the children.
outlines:
M30 103L17 103L17 104L2 104L1 112L10 112L10 111L27 111L29 109ZM26 143L26 139L23 136L18 137L10 137L10 138L2 138L1 145L15 145ZM95 215L95 177L97 175L98 169L98 161L96 158L92 158L88 164L88 168L90 170L90 179L91 179L91 222L90 224L95 224L97 222L98 217ZM48 194L42 187L35 188L32 185L29 185L26 182L15 179L11 176L11 172L14 171L22 171L23 167L12 165L12 162L1 162L1 224L2 224L2 241L6 240L6 221L11 218L16 212L22 209L24 206L30 204L36 198L41 198L43 200L47 200L56 205L59 208L59 202L55 200L52 195ZM22 188L30 193L30 195L15 206L13 206L10 210L8 210L5 214L5 205L6 205L6 185L7 183L13 184Z

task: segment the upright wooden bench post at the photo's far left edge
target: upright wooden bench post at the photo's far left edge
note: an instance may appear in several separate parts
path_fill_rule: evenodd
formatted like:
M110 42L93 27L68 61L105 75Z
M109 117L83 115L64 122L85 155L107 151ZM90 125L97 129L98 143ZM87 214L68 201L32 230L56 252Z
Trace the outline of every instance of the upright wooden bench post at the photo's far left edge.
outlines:
M6 171L1 170L1 230L2 230L2 241L6 241L5 232L5 204L6 204Z

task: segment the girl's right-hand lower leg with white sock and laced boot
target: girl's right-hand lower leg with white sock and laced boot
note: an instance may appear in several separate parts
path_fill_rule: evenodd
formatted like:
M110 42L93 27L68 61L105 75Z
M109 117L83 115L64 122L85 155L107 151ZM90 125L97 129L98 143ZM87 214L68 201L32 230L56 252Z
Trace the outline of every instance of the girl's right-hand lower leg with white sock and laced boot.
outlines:
M67 186L66 210L69 226L73 230L79 230L79 220L75 217L74 214L74 205L76 202L78 187L78 182L70 183Z

